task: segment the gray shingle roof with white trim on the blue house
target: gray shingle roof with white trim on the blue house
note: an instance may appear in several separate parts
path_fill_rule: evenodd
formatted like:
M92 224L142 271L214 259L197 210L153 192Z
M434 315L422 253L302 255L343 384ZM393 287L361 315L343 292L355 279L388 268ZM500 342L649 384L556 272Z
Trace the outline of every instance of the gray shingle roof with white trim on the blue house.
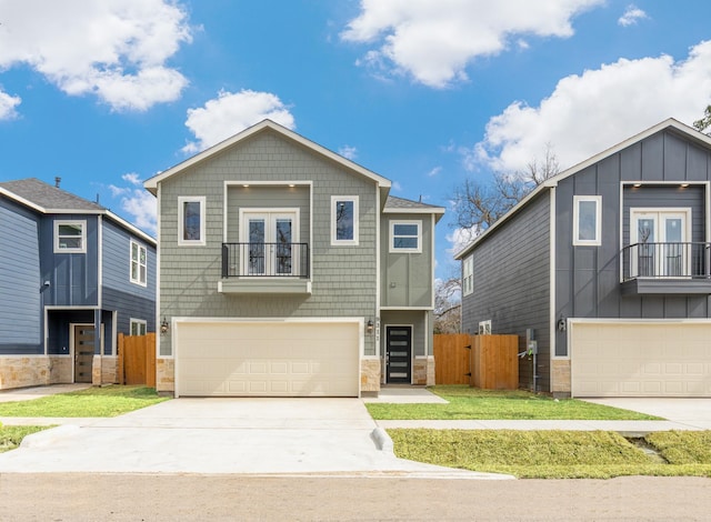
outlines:
M42 214L106 215L153 247L157 244L156 239L124 219L119 218L106 207L67 192L37 178L2 181L0 182L0 195L6 195Z

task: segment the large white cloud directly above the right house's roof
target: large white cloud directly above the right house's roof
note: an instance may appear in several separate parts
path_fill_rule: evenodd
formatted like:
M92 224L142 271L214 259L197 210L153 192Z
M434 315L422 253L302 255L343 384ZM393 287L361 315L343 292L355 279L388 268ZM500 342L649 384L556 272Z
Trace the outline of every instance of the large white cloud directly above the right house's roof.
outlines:
M565 169L667 118L691 124L710 102L711 41L693 47L685 61L622 59L563 78L539 107L510 104L465 151L464 165L522 171L550 144Z

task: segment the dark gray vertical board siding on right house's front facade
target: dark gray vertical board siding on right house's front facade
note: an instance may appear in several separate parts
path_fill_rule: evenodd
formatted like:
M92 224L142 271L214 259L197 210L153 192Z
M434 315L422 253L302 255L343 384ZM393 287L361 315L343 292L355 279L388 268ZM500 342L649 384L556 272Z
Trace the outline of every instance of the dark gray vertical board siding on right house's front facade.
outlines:
M630 208L691 208L692 239L705 241L710 202L704 187L677 183L710 180L711 154L673 131L662 131L560 181L555 191L557 317L711 318L709 295L623 295L620 284L621 244L629 244ZM637 181L642 182L640 188L624 185L621 204L622 183ZM573 247L573 195L602 197L600 247ZM557 355L568 355L567 342L567 333L558 332Z

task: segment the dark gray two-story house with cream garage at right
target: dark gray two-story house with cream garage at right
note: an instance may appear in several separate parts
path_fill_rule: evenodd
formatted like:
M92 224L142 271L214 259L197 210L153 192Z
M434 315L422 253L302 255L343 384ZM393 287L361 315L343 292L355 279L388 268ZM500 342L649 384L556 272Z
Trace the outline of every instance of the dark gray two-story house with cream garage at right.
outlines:
M545 181L457 254L463 331L535 340L523 388L711 396L710 184L673 119Z

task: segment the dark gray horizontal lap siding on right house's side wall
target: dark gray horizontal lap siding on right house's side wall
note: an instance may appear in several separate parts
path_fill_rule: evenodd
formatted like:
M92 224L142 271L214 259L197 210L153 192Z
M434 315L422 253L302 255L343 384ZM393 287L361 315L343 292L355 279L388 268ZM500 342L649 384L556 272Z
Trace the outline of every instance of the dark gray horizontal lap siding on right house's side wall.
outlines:
M519 335L533 329L538 341L539 391L550 388L550 195L542 191L477 245L473 292L462 298L462 328L477 333L491 320L495 334ZM467 258L463 258L464 261ZM462 263L463 265L463 263ZM519 383L532 389L532 361L519 361Z

